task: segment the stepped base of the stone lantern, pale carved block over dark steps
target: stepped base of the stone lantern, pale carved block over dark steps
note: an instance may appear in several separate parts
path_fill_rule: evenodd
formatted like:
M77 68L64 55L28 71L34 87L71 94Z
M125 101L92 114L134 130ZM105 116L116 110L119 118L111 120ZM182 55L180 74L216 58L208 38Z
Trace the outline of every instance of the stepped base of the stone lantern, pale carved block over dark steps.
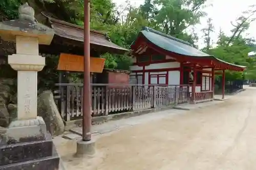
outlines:
M41 117L11 123L0 143L1 170L56 170L58 167L59 156Z

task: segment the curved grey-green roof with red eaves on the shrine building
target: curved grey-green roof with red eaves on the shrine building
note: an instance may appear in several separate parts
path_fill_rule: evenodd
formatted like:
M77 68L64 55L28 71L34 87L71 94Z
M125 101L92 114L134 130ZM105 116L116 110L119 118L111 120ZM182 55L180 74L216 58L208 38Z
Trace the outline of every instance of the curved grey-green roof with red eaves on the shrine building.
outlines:
M161 54L176 58L179 62L193 62L200 65L215 66L219 69L243 71L246 67L232 64L215 56L208 55L193 47L190 43L163 34L151 28L143 28L137 39L131 45L134 55L142 48L150 47Z

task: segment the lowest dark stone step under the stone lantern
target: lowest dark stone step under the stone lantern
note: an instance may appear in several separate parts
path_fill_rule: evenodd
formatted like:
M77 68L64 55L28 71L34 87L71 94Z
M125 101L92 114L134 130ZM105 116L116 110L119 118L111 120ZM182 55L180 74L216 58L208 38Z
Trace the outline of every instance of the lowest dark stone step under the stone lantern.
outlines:
M53 155L24 162L0 166L1 170L57 170L59 169L59 156L53 147Z

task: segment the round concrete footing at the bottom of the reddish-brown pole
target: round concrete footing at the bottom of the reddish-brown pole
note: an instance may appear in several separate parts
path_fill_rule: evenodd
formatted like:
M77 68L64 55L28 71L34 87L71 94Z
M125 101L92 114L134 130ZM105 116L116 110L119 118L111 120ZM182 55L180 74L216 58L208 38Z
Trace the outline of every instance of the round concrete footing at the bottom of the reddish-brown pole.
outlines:
M95 139L91 139L90 141L83 141L82 139L77 142L76 145L76 156L92 156L96 152L95 147Z

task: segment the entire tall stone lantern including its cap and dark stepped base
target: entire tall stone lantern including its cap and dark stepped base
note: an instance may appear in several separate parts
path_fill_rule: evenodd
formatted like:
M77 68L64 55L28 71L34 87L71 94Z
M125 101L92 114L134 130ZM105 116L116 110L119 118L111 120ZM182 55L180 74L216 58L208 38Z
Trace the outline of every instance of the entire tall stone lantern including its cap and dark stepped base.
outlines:
M16 43L16 54L8 63L17 70L17 119L10 123L0 143L0 169L58 169L59 157L46 125L37 116L37 71L45 66L38 44L49 45L54 31L34 18L27 3L19 18L0 23L0 36Z

